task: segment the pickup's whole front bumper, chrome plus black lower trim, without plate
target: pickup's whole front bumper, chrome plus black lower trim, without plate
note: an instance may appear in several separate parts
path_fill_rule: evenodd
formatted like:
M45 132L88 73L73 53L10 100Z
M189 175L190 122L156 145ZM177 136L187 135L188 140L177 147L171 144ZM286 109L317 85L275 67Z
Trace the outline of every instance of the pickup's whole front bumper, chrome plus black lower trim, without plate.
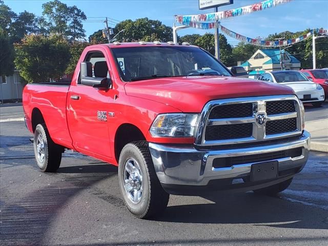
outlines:
M292 139L247 148L243 145L240 148L211 150L154 143L150 143L149 148L157 177L162 187L171 194L196 195L205 190L249 191L282 182L301 171L309 156L310 133L303 131L301 136ZM301 148L299 156L270 159L278 161L279 176L275 179L249 181L252 164L263 161L253 160L224 168L213 167L214 160L218 158L268 154L295 148ZM237 179L245 182L234 183Z

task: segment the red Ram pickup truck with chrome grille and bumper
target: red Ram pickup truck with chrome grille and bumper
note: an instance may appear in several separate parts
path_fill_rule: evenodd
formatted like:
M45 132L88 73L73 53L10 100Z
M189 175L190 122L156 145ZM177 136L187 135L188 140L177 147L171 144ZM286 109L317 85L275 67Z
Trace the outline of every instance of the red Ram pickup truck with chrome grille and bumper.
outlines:
M70 83L24 89L37 165L55 172L72 149L118 166L139 218L169 194L283 191L308 160L303 105L289 87L231 75L188 44L89 46Z

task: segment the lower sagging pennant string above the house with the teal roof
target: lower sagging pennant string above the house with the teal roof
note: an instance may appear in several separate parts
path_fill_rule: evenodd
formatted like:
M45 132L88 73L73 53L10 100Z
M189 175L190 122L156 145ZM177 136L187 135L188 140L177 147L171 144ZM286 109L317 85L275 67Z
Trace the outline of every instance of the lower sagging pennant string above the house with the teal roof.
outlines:
M299 36L297 38L291 38L291 39L280 40L280 41L278 41L278 40L265 41L265 40L261 40L258 38L250 38L250 37L240 35L240 34L233 32L223 26L220 26L220 28L224 34L227 34L228 36L235 38L235 39L239 40L240 42L257 45L257 46L263 46L263 47L279 47L279 46L293 45L293 44L299 43L313 35L313 30L311 30L310 32L306 33L305 35ZM327 33L327 30L317 29L317 32L319 34L324 34L324 33Z

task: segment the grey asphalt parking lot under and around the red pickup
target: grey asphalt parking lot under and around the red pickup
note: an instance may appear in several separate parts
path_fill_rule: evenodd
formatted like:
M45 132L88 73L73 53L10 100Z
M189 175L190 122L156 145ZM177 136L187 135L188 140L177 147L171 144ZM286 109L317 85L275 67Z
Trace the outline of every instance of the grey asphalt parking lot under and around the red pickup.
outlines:
M159 217L124 207L117 168L67 151L57 173L38 170L21 107L0 109L1 245L327 245L328 156L311 152L278 197L171 196ZM328 104L306 107L306 120Z

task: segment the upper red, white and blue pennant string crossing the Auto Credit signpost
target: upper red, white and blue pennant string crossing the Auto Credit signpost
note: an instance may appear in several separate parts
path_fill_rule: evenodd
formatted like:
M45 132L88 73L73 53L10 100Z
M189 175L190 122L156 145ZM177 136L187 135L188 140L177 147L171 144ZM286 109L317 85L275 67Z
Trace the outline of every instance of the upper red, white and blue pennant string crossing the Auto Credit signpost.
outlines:
M264 9L270 9L273 7L277 7L278 5L285 4L291 2L292 0L266 0L261 3L252 4L249 6L231 9L227 11L220 11L216 13L209 13L209 14L195 14L195 15L175 15L176 22L190 26L196 27L197 25L201 28L202 24L212 24L213 22L217 22L221 19L228 19L235 16L250 14L253 12L261 11ZM212 23L206 23L212 22ZM212 24L213 25L213 24ZM209 29L207 25L203 26L204 28L201 29Z

